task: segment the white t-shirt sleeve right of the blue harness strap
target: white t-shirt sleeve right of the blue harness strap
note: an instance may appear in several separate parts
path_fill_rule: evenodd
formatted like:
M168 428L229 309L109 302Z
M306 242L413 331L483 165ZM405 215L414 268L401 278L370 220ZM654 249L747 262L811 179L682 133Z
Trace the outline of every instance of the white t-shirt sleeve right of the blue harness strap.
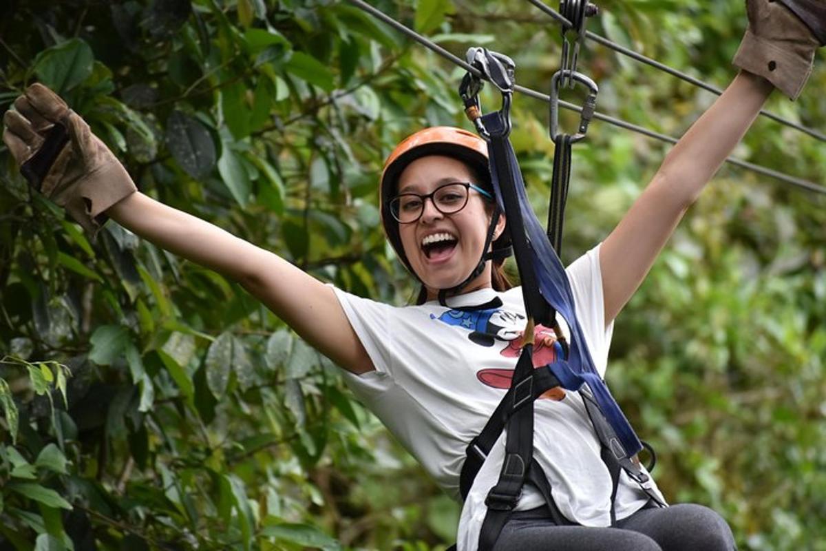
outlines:
M600 245L574 260L566 268L568 281L573 291L577 320L582 327L596 371L605 377L608 365L608 350L614 321L605 325L605 301L602 297L602 271L600 268Z

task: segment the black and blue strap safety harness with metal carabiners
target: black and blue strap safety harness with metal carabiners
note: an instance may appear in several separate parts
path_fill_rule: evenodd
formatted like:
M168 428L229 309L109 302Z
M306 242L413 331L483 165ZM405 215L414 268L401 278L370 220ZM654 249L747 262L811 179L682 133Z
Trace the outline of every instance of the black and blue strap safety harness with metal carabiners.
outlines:
M581 13L586 17L585 0L563 0L570 2L567 13ZM564 9L564 7L563 7ZM582 21L578 22L580 35ZM565 31L563 38L566 40ZM563 55L569 55L569 48ZM574 59L563 61L563 67L552 81L551 137L557 145L554 155L553 192L548 216L548 229L543 230L531 209L525 193L519 164L510 145L510 105L515 87L515 64L506 55L497 54L484 48L468 50L467 61L479 74L468 73L459 88L465 112L477 128L477 132L487 142L491 169L491 181L496 192L496 202L505 212L510 231L511 246L519 269L525 313L528 323L522 343L520 357L516 363L510 389L502 398L482 432L472 439L466 450L466 459L460 475L460 492L466 499L473 481L485 462L491 448L499 439L502 430L506 433L506 454L496 485L487 494L485 504L487 515L479 537L480 551L489 551L506 524L511 512L520 500L525 482L531 482L542 493L553 521L558 525L575 524L559 511L548 478L534 459L534 401L553 387L579 391L586 411L601 443L601 458L608 468L613 482L611 491L611 524L615 524L615 498L619 485L619 473L624 471L645 494L654 506L666 506L653 489L653 484L641 467L638 452L643 444L629 425L614 397L610 395L605 382L596 371L591 354L586 346L582 327L574 310L573 293L567 280L565 268L557 251L561 243L564 203L571 173L571 145L585 137L587 126L596 107L598 88L590 78L576 72ZM502 107L498 112L482 115L478 93L484 81L495 86L502 96ZM558 91L560 84L575 83L589 89L586 104L582 108L579 131L575 135L558 133ZM555 246L552 245L553 244ZM570 342L565 340L557 321L561 316L570 330ZM547 369L534 368L534 327L545 325L553 328L557 336L558 354ZM652 453L653 449L646 444ZM653 465L652 465L653 467Z

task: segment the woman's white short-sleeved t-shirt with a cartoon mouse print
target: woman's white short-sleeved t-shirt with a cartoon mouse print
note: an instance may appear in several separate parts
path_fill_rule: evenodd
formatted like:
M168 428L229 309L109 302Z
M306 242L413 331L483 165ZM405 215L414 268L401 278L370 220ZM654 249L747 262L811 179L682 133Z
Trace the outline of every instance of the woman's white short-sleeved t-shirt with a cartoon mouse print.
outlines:
M613 322L605 327L599 245L571 264L577 319L596 368L605 375ZM520 287L507 292L481 289L421 306L389 306L335 289L344 313L373 360L375 371L345 375L349 387L440 487L455 499L465 449L487 422L510 386L518 358L525 306ZM503 306L459 311L500 297ZM563 333L569 335L560 318ZM535 330L534 365L553 361L553 331ZM477 549L487 513L485 497L496 484L505 454L505 434L477 474L458 527L458 551ZM562 401L534 404L534 458L551 484L553 499L568 519L586 526L610 525L611 478L600 442L578 392ZM622 473L616 514L622 519L648 497ZM517 510L542 506L526 484Z

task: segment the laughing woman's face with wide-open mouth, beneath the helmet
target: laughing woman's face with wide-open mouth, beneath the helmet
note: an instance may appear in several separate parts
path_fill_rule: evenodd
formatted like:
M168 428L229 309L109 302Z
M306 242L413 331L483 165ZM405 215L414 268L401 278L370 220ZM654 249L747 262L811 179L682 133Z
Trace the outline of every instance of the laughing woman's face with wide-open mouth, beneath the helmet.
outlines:
M468 165L442 155L428 155L408 164L399 177L398 193L414 192L421 195L433 192L445 183L470 182L476 179ZM476 268L485 245L491 215L484 197L468 191L468 204L458 212L444 215L425 200L424 211L418 221L399 224L401 245L416 275L425 283L428 299L437 296L439 289L454 287L464 281ZM505 220L501 216L494 235L501 234ZM435 243L429 243L436 238ZM491 263L485 271L468 283L463 292L491 286Z

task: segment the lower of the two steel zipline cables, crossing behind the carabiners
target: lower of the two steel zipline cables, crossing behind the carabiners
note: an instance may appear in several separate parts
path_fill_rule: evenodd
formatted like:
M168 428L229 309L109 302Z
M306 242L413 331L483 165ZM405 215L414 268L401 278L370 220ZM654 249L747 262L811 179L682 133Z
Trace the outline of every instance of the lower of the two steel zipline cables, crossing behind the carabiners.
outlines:
M376 17L380 21L383 21L384 23L387 23L387 25L392 26L394 29L396 29L396 31L401 32L403 35L407 36L408 38L411 38L412 40L415 40L416 42L418 42L420 45L425 46L425 48L434 51L436 54L441 55L442 57L444 57L444 59L448 59L453 64L456 64L459 67L461 67L462 69L465 69L466 71L468 71L468 73L471 73L474 76L477 76L479 78L483 78L483 75L479 72L479 70L476 69L475 67L473 67L472 65L468 64L467 62L465 62L464 59L458 58L456 55L451 54L448 50L445 50L442 46L440 46L438 44L435 44L432 40L428 40L427 38L425 38L425 36L421 36L419 33L413 31L412 29L408 28L407 26L402 25L399 21L396 21L392 17L387 16L385 13L380 12L379 10L377 10L375 7L371 6L367 2L364 2L363 0L347 0L347 2L353 4L355 7L358 7L359 9L363 10L364 12L368 12L370 15L372 15L373 17ZM557 14L557 15L559 15L559 14ZM562 17L562 16L560 16L560 17ZM537 92L536 90L534 90L532 88L525 88L524 86L520 86L520 85L517 84L517 85L514 86L514 90L515 90L515 92L525 94L525 96L534 97L535 99L539 99L543 102L550 102L550 97L548 97L548 94ZM559 105L561 107L564 107L564 108L570 110L570 111L582 112L582 107L574 105L570 102L565 102L563 100L559 100ZM648 128L645 128L643 126L638 126L638 125L632 124L630 122L623 121L622 119L615 118L614 116L605 115L601 112L594 112L593 118L595 118L599 121L607 122L610 125L617 126L619 128L623 128L625 130L637 132L638 134L641 134L641 135L646 135L646 136L648 136L650 138L653 138L655 140L661 140L661 141L669 143L669 144L676 144L676 142L677 142L677 139L675 137L671 136L671 135L661 134L660 132L648 130ZM734 164L735 166L741 167L743 169L751 170L752 172L760 173L760 174L762 174L764 176L768 176L770 178L776 178L776 179L781 180L783 182L790 183L793 186L797 186L799 188L806 189L810 192L822 193L822 194L826 195L826 188L824 188L823 186L821 186L817 183L810 182L809 180L806 180L806 179L803 179L803 178L797 178L795 176L791 176L790 174L781 173L777 170L767 169L766 167L763 167L759 164L749 163L748 161L744 161L743 159L737 159L736 157L729 156L729 157L726 158L726 162L730 163L730 164Z

